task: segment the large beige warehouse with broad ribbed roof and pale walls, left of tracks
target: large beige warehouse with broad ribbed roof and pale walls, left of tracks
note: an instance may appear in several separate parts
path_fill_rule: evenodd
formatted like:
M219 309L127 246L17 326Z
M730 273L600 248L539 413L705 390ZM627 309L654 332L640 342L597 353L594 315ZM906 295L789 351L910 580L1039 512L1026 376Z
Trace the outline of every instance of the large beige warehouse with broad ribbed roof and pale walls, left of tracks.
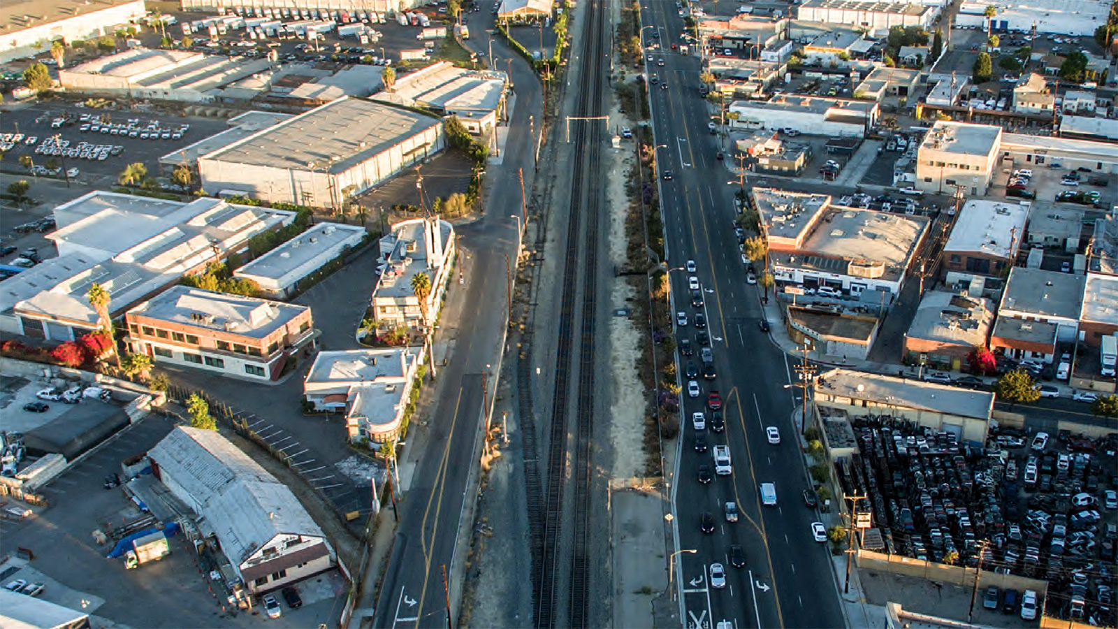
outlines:
M443 124L339 98L198 158L202 188L337 209L445 145Z

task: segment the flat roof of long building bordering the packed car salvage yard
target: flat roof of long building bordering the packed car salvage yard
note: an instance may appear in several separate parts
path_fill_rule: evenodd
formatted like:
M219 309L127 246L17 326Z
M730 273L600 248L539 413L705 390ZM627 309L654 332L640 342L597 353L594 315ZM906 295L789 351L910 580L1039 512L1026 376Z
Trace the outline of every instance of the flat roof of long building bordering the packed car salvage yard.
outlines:
M988 420L994 409L993 393L852 369L831 369L819 374L815 391L824 395L976 420Z

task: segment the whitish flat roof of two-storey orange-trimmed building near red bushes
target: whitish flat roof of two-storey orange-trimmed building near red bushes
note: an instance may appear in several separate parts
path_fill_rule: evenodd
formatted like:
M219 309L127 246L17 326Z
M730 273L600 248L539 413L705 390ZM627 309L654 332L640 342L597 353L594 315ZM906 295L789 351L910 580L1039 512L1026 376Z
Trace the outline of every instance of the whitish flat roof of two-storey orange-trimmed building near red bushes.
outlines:
M306 306L177 285L133 308L129 316L264 338L307 310ZM198 320L198 314L212 317L212 323Z

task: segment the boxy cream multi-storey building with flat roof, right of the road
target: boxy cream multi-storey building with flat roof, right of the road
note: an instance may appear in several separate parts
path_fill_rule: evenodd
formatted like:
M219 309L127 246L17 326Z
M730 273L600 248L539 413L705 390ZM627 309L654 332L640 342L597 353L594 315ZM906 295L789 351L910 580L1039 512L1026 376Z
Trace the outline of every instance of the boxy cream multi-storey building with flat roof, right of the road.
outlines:
M929 194L985 195L994 177L1002 129L937 121L917 150L916 188Z

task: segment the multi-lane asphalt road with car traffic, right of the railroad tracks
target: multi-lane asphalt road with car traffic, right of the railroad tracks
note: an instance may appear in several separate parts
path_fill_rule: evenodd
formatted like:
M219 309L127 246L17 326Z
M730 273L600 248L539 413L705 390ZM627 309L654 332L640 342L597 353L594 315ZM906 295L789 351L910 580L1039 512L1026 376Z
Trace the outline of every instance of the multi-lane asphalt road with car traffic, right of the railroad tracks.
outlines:
M651 85L652 124L661 170L671 170L671 180L661 179L661 205L669 243L669 265L684 266L693 260L694 275L702 284L704 304L691 306L685 270L671 271L674 309L688 313L678 338L690 338L693 357L700 364L694 317L702 312L708 320L717 377L698 378L702 393L697 398L683 392L681 452L675 487L675 524L679 531L679 569L675 576L682 592L683 618L688 627L714 629L727 620L733 627L841 627L845 622L832 576L826 544L814 541L811 523L819 519L804 505L802 494L811 487L792 423L792 362L758 327L762 317L756 285L746 283L746 269L738 251L732 220L736 179L716 158L720 135L711 134L711 112L699 94L700 58L680 55L670 45L680 41L683 20L671 2L642 4L644 39L661 41L647 64L650 78L666 82L667 88ZM653 37L653 32L659 39ZM645 53L648 54L647 51ZM693 51L698 55L698 51ZM684 378L686 379L686 378ZM722 397L726 430L713 432L707 395L717 389ZM708 428L695 431L694 412L707 414ZM766 426L777 426L781 440L770 444ZM699 466L713 470L711 450L697 452L697 433L711 448L730 447L733 473L716 476L709 484L699 481ZM776 485L776 506L762 506L759 484ZM741 517L729 523L724 504L739 505ZM713 533L700 531L702 513L714 519ZM729 551L740 545L746 554L742 567L730 565ZM724 588L710 585L710 565L726 567Z

